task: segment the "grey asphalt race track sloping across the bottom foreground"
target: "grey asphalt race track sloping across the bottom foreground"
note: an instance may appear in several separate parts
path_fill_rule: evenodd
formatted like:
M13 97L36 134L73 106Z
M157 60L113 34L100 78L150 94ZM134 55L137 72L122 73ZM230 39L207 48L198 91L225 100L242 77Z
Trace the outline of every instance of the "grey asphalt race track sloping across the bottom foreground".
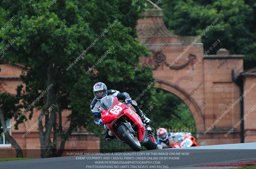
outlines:
M143 155L144 153L144 155ZM163 155L163 153L165 155ZM183 155L180 155L183 153ZM146 155L148 154L148 155ZM176 155L175 155L176 154ZM112 158L102 160L102 158ZM114 159L115 157L115 159ZM161 160L161 158L169 158ZM87 158L87 159L86 159ZM93 159L94 158L94 159ZM97 159L96 159L97 158ZM101 160L99 159L101 158ZM116 158L120 158L119 160ZM126 159L125 159L126 158ZM134 160L127 160L133 158ZM135 159L137 158L137 159ZM150 159L147 160L146 158ZM151 158L158 158L157 160ZM171 159L170 159L171 158ZM175 159L176 158L176 159ZM179 158L179 159L177 159ZM159 160L160 159L160 160ZM85 169L85 168L205 168L206 164L239 163L256 159L256 143L222 144L187 148L150 150L139 152L108 153L100 155L68 156L57 158L40 158L0 162L1 169ZM95 161L103 161L95 164ZM112 162L111 162L112 161ZM138 164L116 165L117 162L133 162ZM160 164L140 164L141 161L160 161ZM255 160L252 160L255 161ZM105 162L105 164L103 164ZM110 166L112 165L112 166ZM114 167L113 167L114 165ZM200 166L201 165L201 166ZM151 166L151 167L150 167ZM217 166L217 165L216 165ZM218 168L218 167L214 167ZM228 167L221 167L228 168Z

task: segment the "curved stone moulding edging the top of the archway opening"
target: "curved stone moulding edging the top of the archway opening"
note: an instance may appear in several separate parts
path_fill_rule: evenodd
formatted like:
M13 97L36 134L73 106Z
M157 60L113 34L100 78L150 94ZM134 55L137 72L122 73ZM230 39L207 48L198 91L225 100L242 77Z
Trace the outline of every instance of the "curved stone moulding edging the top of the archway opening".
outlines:
M156 86L157 88L173 93L174 95L178 96L181 100L186 98L188 95L188 93L184 89L168 81L156 79ZM195 110L198 108L197 103L192 97L189 97L185 104L188 106L191 112L195 112ZM196 130L205 130L204 116L201 110L198 110L198 112L195 113L194 119L196 123Z

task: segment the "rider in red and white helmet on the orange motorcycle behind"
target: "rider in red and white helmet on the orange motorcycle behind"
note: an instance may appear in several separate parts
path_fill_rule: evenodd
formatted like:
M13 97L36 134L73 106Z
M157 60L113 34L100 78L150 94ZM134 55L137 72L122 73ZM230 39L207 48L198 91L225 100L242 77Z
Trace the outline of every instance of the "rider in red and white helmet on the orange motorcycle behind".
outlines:
M172 140L172 137L174 137L176 134L185 133L185 132L167 132L165 128L160 128L157 130L157 148L163 149L163 148L172 148L170 145L170 140ZM191 133L185 133L188 135L191 135Z

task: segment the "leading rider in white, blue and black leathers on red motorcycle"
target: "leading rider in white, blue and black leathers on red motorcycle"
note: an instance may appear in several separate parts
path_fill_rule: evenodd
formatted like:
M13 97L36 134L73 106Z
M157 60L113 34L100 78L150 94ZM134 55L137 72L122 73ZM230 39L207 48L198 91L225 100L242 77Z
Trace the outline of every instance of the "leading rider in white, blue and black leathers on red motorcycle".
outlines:
M98 82L93 86L93 94L95 97L93 98L92 103L91 103L91 110L94 115L94 123L101 125L101 126L103 125L103 122L101 120L101 115L100 115L100 113L98 113L98 108L100 107L100 100L105 98L107 95L117 97L120 100L125 100L126 103L131 103L131 105L134 107L134 109L136 110L136 113L140 116L142 121L146 125L148 125L150 123L150 120L143 114L143 112L137 106L137 102L132 100L132 98L130 97L130 95L128 93L126 93L126 92L120 93L117 90L107 90L107 86L104 83ZM116 136L108 129L106 130L104 135L105 135L106 140L108 140L108 141L116 138Z

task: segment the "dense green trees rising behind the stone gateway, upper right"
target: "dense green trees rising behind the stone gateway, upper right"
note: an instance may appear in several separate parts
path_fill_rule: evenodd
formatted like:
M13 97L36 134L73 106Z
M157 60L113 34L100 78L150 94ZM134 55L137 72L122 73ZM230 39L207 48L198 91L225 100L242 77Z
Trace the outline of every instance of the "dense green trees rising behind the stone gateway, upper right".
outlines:
M234 2L234 0L163 0L159 6L164 11L164 20L170 20L167 28L180 36L197 36L216 18L220 18L202 37L204 50L208 50L219 39L220 44L213 48L210 54L215 54L220 48L226 48L230 54L244 54L245 69L249 69L255 67L256 63L254 51L256 9L252 0ZM151 5L150 7L153 8ZM250 58L252 61L248 61Z

